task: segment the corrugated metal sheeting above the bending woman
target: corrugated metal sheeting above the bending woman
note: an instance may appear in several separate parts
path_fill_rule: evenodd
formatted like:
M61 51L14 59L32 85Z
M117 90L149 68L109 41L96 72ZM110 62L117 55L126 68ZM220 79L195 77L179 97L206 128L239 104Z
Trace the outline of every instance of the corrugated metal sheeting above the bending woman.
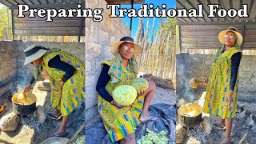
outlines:
M57 35L82 36L85 35L85 18L52 18L53 22L46 22L46 18L17 18L17 4L26 4L30 8L77 8L81 2L85 7L85 0L0 0L0 2L13 10L13 25L15 35ZM81 27L81 26L82 27ZM80 30L80 31L79 31ZM80 32L80 33L79 33Z

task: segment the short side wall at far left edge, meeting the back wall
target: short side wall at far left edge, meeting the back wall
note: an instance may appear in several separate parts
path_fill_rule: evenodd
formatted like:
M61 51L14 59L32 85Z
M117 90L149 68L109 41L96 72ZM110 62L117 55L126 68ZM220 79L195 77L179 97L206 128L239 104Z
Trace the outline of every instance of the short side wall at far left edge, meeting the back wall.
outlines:
M13 89L16 70L15 44L8 41L0 41L0 96Z

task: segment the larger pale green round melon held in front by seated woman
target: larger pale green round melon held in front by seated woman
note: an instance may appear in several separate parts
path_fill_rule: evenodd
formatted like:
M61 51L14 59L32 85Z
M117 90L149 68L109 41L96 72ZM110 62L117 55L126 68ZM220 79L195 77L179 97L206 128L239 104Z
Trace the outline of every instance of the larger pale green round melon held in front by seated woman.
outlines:
M113 90L114 102L119 105L130 105L134 103L137 91L133 86L120 85Z

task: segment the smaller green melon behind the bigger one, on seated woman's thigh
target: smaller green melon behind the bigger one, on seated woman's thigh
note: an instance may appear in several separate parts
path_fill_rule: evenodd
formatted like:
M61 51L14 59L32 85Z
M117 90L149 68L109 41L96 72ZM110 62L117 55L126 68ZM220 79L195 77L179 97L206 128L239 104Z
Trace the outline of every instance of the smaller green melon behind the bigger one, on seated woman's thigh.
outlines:
M149 88L149 82L145 78L134 78L130 81L130 86L134 86L138 93L140 93Z

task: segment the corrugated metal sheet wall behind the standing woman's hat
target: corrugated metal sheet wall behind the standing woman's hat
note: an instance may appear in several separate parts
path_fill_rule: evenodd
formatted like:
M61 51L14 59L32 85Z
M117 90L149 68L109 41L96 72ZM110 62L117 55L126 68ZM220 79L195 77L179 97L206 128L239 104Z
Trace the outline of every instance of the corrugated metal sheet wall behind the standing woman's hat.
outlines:
M256 25L238 26L240 34L243 33L243 50L256 50ZM180 46L182 49L218 49L221 43L218 41L218 33L226 30L229 26L180 26ZM244 29L244 30L243 30Z

